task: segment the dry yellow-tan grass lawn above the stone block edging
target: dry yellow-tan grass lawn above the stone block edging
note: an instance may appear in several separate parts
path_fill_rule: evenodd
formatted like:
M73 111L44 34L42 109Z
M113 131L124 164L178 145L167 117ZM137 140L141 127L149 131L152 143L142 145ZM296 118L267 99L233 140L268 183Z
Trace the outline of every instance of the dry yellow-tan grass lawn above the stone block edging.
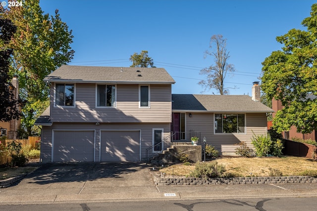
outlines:
M278 169L283 176L300 175L305 170L317 171L317 161L304 157L284 156L281 158L244 158L244 157L224 157L215 159L218 164L226 168L226 173L235 176L269 176L269 168ZM195 165L185 166L183 164L171 165L160 169L165 176L189 176L195 169Z

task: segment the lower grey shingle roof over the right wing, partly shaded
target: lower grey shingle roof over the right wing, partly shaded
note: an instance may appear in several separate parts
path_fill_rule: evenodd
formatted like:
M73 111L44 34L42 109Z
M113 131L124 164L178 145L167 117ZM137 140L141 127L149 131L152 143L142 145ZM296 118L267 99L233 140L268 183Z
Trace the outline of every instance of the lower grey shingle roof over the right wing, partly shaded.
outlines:
M274 112L249 95L172 94L172 110L195 112Z

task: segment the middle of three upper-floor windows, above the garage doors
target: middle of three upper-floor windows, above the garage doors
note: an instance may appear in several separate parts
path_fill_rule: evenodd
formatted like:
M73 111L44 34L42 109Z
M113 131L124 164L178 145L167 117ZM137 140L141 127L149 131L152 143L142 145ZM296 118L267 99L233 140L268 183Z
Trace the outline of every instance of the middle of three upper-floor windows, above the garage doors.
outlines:
M97 85L97 106L115 107L115 85Z

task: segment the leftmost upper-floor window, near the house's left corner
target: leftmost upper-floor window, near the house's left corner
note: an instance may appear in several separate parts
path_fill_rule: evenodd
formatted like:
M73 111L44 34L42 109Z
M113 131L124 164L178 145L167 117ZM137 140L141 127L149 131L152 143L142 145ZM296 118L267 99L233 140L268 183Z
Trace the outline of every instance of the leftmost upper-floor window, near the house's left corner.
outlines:
M74 106L75 85L74 84L56 84L55 105L57 106Z

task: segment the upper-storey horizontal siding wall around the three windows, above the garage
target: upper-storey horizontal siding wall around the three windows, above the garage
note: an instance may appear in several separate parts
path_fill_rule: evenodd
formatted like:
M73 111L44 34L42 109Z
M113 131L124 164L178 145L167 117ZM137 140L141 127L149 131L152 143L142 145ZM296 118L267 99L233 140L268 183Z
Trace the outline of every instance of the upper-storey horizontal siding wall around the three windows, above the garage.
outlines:
M139 108L139 85L117 84L116 107L96 108L96 84L75 85L75 107L53 106L53 122L170 123L171 85L150 84L150 108Z

